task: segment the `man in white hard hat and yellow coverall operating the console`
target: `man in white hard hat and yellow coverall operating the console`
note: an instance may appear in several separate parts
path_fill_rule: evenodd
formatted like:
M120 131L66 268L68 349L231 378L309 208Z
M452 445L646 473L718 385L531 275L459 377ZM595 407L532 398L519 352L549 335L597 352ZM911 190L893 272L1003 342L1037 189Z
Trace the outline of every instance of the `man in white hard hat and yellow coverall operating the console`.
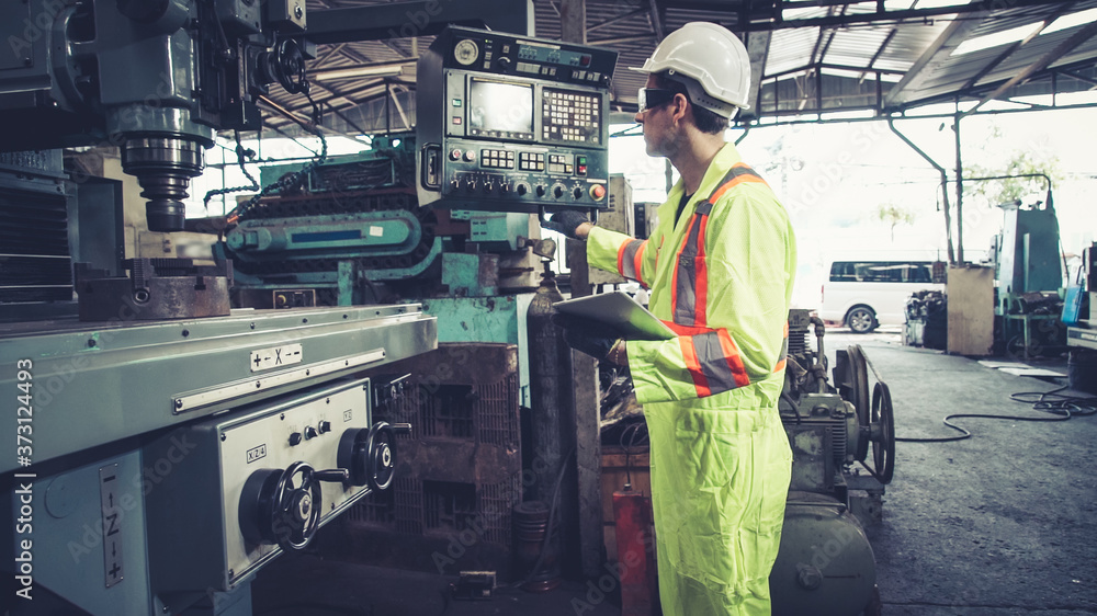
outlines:
M749 59L710 23L671 33L640 69L647 153L681 180L645 241L577 212L546 227L587 240L587 259L651 287L678 334L622 341L565 319L569 344L627 364L651 433L659 591L666 616L770 613L791 472L777 411L784 380L795 241L769 186L724 130L746 106Z

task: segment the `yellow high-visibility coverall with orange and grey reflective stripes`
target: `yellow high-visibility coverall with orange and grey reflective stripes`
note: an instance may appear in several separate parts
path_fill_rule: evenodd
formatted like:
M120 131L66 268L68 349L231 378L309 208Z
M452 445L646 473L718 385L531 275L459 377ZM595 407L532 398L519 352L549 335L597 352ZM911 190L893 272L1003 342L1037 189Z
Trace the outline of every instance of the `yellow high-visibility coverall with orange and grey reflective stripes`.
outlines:
M647 240L595 227L587 259L651 287L678 336L629 341L651 433L666 616L768 615L792 454L778 415L796 264L788 213L735 147L677 225L670 191Z

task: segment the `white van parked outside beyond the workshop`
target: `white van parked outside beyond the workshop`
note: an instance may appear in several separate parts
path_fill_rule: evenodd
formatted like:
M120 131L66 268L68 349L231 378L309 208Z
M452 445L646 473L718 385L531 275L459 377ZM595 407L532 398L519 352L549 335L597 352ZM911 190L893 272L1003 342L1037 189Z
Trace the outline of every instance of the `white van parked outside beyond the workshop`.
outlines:
M945 290L943 284L934 283L931 260L836 259L823 282L818 316L856 333L881 324L901 326L906 321L906 300L923 289Z

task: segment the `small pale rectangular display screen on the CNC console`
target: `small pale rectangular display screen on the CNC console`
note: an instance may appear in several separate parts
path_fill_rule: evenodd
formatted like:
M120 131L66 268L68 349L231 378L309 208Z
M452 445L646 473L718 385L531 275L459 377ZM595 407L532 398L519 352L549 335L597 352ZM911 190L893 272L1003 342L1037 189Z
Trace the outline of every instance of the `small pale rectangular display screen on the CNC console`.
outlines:
M468 134L532 140L533 85L472 79Z

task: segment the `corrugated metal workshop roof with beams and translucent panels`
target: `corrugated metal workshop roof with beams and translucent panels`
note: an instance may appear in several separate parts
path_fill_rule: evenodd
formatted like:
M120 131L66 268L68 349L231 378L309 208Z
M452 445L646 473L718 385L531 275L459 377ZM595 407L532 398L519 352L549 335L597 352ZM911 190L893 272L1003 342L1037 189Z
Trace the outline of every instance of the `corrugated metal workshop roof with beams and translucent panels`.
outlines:
M456 0L436 0L456 1ZM474 0L460 0L463 7ZM516 0L520 2L521 0ZM534 0L535 35L544 38L561 36L559 5L563 0ZM308 0L310 14L317 11L355 7L393 4L385 0ZM626 70L642 66L664 34L690 21L720 23L744 38L768 37L761 46L756 66L759 104L750 121L758 115L815 113L832 109L869 109L887 112L948 99L979 99L1000 83L1011 79L1040 60L1048 67L1031 76L1027 84L1018 84L1018 93L1050 92L1050 75L1070 70L1084 79L1097 78L1097 36L1075 41L1071 48L1063 43L1088 27L1083 23L1036 37L1010 53L1008 43L969 54L954 54L963 41L993 41L979 37L1002 35L1013 28L1032 25L1056 15L1076 14L1097 7L1097 0L1083 2L1050 2L1048 0L1010 0L986 4L963 0L883 0L842 2L841 0L587 0L587 42L615 49L618 70L611 95L613 106L623 111L635 107L636 90L643 87L641 73ZM409 7L428 8L428 3ZM878 13L880 8L883 13ZM777 18L779 15L779 19ZM415 30L415 28L409 28ZM1093 30L1090 27L1090 30ZM757 34L754 34L757 33ZM403 73L388 78L398 89L415 89L416 50L426 49L431 36L418 38L386 37L384 41L362 41L339 45L319 45L318 59L309 62L310 71L337 68L403 62ZM765 39L761 39L765 41ZM755 47L751 46L751 49ZM1058 57L1050 57L1050 54ZM878 72L883 71L878 82ZM1087 88L1085 80L1061 76L1060 88ZM384 99L386 89L378 78L317 81L314 100L331 104L343 115L384 111L384 104L367 104ZM1007 92L1006 95L1009 95ZM272 99L294 112L307 112L310 104L304 96L289 95L272 88ZM380 102L380 101L378 101ZM402 100L412 106L412 98ZM359 110L352 107L365 105ZM414 109L406 110L414 117ZM392 110L389 110L392 113ZM271 116L272 124L285 124ZM338 123L336 118L332 122Z

